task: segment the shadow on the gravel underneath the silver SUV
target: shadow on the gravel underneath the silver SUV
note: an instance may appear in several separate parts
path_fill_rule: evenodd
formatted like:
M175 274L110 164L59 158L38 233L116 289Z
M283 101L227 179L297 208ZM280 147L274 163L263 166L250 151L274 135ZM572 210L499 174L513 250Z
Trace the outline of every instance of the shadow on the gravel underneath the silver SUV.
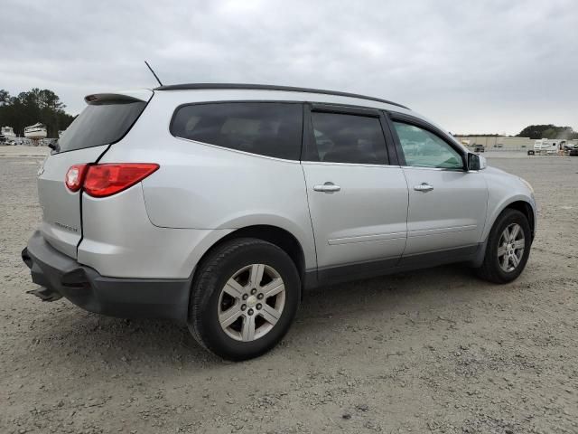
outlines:
M359 312L362 316L370 310L394 316L408 307L428 308L432 300L439 305L441 299L450 303L456 298L483 298L491 288L496 287L473 277L471 269L447 266L309 290L303 296L297 325L289 334L291 346L328 330L340 333L337 326L346 315L355 317ZM41 353L66 353L68 363L87 363L87 358L96 355L107 361L130 361L133 367L141 362L177 363L188 368L227 364L197 344L186 325L99 316L72 306L58 315L62 317L52 318L57 324L34 329L33 339L44 347L37 347ZM287 346L282 344L274 353L284 351Z

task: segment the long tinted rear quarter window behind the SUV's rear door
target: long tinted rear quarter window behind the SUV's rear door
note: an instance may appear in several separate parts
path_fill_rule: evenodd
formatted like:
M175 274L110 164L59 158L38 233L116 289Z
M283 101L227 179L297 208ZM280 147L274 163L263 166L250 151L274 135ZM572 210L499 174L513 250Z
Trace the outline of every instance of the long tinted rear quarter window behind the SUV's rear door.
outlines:
M299 160L303 137L301 104L230 102L183 106L171 133L262 156Z

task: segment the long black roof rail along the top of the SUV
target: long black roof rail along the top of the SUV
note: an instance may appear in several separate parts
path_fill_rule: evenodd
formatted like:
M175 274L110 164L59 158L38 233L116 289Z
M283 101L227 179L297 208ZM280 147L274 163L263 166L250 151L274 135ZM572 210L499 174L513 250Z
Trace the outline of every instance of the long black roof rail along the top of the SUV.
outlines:
M275 86L272 84L241 84L241 83L185 83L185 84L169 84L159 86L154 90L214 90L214 89L243 89L243 90L284 90L288 92L305 92L305 93L321 93L324 95L335 95L338 97L350 97L359 99L368 99L370 101L384 102L393 106L408 109L406 106L397 104L387 99L373 98L357 93L338 92L334 90L321 90L310 88L295 88L293 86Z

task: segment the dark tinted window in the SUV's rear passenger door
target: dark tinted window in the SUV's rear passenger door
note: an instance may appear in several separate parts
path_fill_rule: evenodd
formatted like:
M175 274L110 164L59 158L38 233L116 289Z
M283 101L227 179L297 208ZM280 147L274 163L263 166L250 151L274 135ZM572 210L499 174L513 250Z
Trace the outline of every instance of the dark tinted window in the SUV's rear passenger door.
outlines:
M387 164L386 141L378 118L312 112L309 159L331 163Z

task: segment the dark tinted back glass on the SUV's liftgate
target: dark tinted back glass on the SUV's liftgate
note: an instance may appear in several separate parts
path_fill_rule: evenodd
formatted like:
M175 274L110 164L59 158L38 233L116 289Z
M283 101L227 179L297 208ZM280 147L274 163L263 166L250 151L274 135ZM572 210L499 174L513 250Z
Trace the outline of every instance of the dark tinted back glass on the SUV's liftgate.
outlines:
M62 134L60 152L117 142L145 107L144 101L89 104Z

